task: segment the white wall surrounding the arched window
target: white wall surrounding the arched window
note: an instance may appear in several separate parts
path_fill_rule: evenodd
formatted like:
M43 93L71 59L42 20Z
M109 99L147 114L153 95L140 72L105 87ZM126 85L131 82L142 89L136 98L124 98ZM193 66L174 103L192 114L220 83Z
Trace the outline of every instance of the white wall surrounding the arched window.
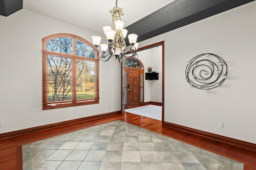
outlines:
M100 61L99 104L42 110L42 38L55 33L97 35L24 9L0 16L0 133L121 110L115 58Z

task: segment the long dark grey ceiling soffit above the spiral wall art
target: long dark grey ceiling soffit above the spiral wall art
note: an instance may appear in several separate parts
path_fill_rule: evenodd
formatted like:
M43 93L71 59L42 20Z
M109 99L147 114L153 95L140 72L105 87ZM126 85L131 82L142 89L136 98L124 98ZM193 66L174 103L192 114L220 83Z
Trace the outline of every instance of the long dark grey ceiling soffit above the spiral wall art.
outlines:
M254 0L176 0L126 27L143 41ZM126 43L128 43L126 38Z

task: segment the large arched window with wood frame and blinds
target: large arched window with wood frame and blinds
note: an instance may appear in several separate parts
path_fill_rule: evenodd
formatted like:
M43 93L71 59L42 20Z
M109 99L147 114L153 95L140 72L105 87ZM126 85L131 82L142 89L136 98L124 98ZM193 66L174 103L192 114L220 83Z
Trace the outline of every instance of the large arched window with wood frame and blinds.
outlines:
M42 39L43 109L99 103L94 45L72 34Z

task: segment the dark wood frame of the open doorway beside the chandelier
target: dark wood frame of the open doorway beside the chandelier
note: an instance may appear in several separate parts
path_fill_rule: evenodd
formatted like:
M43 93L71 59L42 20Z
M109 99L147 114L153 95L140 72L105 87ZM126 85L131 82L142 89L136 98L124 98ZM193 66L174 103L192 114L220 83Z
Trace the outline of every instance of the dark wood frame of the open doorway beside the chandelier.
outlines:
M147 45L145 47L141 47L137 50L143 51L146 49L151 49L154 47L158 47L162 45L162 125L164 123L164 41L160 41L158 43L154 43L151 45ZM138 56L139 57L139 56ZM124 57L122 57L121 63L121 113L125 113L124 111Z

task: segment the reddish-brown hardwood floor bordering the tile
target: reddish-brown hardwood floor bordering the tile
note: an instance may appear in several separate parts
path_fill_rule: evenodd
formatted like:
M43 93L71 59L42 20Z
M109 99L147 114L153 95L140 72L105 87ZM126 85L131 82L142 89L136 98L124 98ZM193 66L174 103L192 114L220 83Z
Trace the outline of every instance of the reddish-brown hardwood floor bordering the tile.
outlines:
M256 152L252 150L213 141L212 139L208 139L206 137L193 135L184 131L178 131L170 127L163 127L161 121L150 119L148 117L142 117L132 113L111 115L80 123L74 123L71 125L64 125L62 127L38 131L36 133L20 135L18 137L12 137L9 139L0 139L0 170L22 170L21 145L118 119L243 162L244 170L256 170Z

